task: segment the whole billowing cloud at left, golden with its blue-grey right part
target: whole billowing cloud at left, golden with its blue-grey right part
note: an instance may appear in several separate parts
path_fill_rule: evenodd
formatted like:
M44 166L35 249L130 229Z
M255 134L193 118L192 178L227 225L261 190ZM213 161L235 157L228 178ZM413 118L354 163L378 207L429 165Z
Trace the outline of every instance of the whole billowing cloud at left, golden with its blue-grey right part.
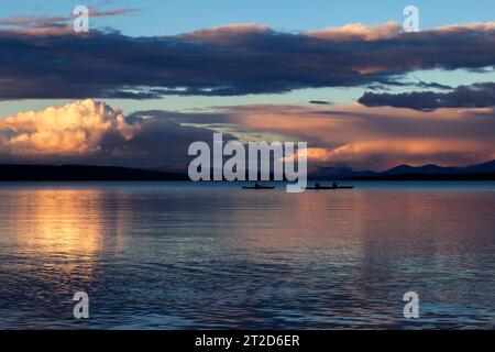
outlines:
M212 133L165 117L128 119L88 99L0 120L0 162L160 166L184 162L189 144Z

